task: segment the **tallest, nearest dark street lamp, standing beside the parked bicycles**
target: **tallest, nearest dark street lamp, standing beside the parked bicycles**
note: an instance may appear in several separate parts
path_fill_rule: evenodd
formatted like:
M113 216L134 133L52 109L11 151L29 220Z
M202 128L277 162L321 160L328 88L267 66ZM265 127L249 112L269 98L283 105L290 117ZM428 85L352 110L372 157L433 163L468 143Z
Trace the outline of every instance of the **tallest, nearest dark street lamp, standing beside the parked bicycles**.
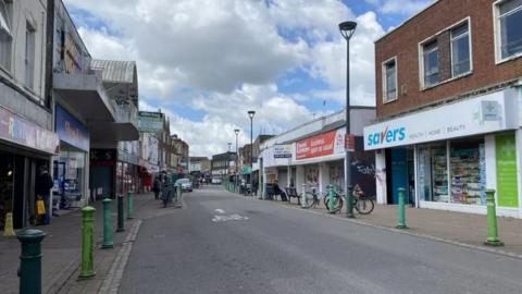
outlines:
M356 22L343 22L339 24L340 35L346 39L346 136L350 136L350 38L356 32L357 23ZM346 142L346 139L345 139ZM345 143L346 145L346 143ZM351 150L346 148L346 158L345 158L345 192L347 198L347 209L346 217L355 218L353 216L353 195L351 194Z

